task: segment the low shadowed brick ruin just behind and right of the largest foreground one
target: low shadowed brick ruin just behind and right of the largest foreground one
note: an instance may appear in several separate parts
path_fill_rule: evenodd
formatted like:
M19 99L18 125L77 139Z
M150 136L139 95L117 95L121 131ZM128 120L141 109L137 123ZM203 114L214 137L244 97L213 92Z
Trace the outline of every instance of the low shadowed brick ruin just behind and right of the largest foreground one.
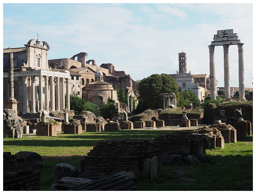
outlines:
M204 141L188 132L164 133L155 137L153 145L162 152L171 152L186 148L191 155L200 154Z

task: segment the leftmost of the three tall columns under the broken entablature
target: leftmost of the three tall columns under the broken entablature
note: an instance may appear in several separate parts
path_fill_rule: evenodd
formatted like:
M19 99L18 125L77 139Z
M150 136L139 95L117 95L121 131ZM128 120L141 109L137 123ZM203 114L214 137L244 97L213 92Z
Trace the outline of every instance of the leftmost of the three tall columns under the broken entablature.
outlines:
M215 82L215 64L214 64L214 47L209 46L209 54L210 54L210 86L211 86L211 98L216 99L217 86Z

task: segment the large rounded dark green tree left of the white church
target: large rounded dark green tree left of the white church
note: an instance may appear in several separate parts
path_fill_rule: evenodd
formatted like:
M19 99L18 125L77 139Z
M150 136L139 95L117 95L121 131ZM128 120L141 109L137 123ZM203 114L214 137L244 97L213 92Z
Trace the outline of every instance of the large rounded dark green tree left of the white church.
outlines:
M142 79L139 83L139 92L145 105L152 110L163 108L165 93L175 93L177 101L180 96L176 80L168 74L152 74Z

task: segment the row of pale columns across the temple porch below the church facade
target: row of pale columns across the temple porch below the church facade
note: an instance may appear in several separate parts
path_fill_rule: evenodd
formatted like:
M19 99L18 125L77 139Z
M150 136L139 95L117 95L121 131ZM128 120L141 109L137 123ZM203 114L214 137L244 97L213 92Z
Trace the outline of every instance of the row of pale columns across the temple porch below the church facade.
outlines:
M30 113L36 113L36 100L35 100L35 76L31 77L31 107ZM45 79L45 110L49 112L49 105L51 112L60 111L65 109L65 78L61 78L62 88L60 89L60 77L56 78L56 106L55 106L55 84L54 76L50 76L50 102L49 104L49 77L47 75L39 75L39 111L43 110L43 77ZM23 76L23 112L27 114L27 78ZM66 78L66 109L70 110L70 89L69 78Z

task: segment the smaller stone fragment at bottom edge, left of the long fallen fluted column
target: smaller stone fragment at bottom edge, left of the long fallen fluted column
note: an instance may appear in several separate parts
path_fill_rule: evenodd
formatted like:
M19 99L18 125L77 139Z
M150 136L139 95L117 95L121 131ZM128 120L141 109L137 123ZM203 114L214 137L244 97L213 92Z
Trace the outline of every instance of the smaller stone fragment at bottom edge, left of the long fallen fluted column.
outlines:
M52 183L51 191L65 191L70 187L81 185L83 183L91 182L90 179L63 177L60 181L54 181Z

